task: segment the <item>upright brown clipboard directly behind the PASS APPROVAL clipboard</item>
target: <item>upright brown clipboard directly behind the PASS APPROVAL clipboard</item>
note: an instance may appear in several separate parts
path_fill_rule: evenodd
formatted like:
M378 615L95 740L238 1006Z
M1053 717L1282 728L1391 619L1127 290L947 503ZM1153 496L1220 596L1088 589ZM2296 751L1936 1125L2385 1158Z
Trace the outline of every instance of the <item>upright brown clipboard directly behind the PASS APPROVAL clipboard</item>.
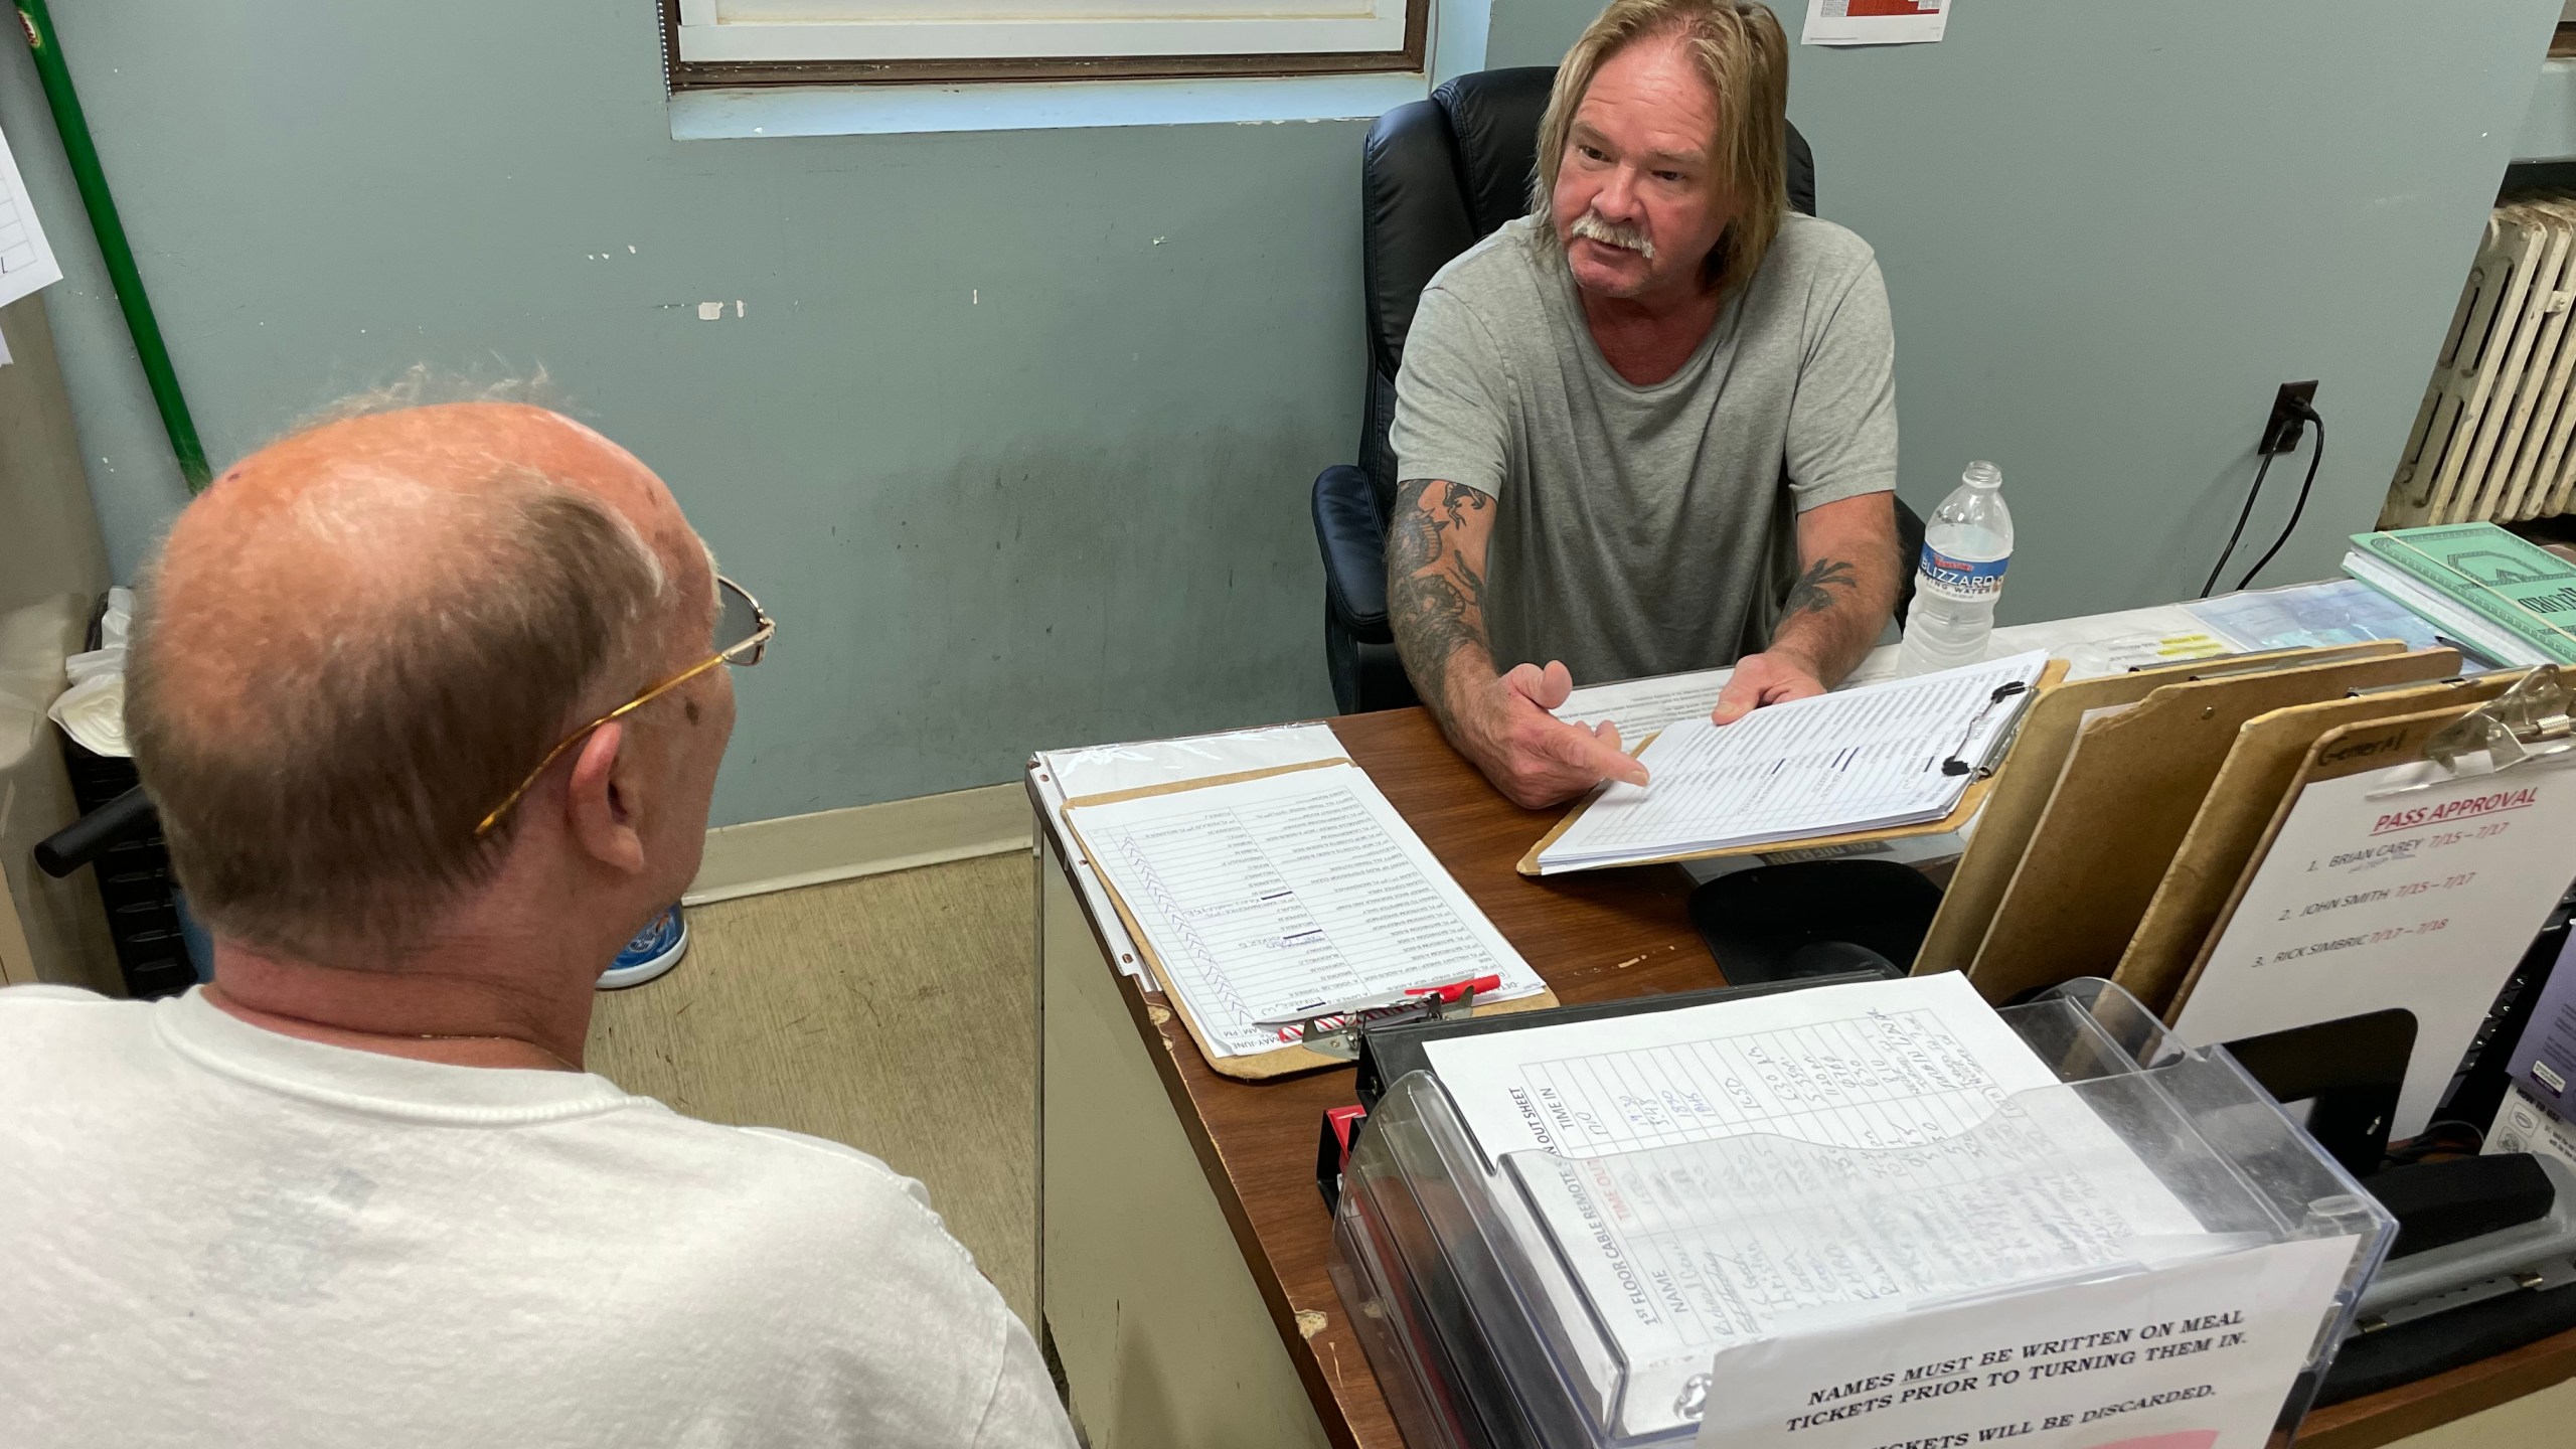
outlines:
M2210 794L2200 802L2200 815L2182 835L2174 864L2146 902L2146 918L2120 954L2112 975L2148 1011L2179 1006L2177 995L2200 949L2213 938L2239 877L2254 861L2280 810L2290 781L2311 758L2316 743L2329 732L2342 735L2347 724L2388 724L2398 717L2429 709L2465 709L2504 694L2519 676L2455 678L2442 683L2357 691L2324 704L2298 704L2262 714L2236 735ZM2362 732L2362 743L2378 735Z

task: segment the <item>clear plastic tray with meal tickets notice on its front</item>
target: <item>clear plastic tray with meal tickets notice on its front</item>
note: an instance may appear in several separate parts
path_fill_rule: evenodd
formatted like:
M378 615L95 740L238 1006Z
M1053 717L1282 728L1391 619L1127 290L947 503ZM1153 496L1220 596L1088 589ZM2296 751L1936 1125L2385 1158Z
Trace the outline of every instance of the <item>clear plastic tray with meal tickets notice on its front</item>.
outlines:
M2061 1085L1929 1142L1489 1163L1432 1073L1388 1085L1332 1276L1404 1441L2295 1431L2396 1220L2226 1052L2169 1047L2110 982L2002 1016Z

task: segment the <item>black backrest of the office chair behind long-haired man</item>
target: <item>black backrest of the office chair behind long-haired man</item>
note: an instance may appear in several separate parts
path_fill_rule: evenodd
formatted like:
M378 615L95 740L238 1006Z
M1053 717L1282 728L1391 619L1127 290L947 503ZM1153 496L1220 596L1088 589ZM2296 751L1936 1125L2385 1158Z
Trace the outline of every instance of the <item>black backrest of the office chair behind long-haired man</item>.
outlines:
M1553 64L1479 70L1396 106L1360 152L1360 258L1368 299L1368 407L1360 469L1383 516L1396 498L1396 459L1386 428L1396 415L1404 335L1432 273L1512 217L1530 211L1538 170L1538 116L1556 85ZM1788 129L1788 204L1816 214L1816 157Z

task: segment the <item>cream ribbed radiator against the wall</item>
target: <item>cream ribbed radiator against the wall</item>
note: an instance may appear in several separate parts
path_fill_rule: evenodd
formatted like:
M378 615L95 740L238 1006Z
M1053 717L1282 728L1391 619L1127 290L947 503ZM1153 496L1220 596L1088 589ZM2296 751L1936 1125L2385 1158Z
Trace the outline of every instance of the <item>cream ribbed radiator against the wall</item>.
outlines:
M2514 196L2486 222L2380 529L2568 513L2576 492L2576 196Z

